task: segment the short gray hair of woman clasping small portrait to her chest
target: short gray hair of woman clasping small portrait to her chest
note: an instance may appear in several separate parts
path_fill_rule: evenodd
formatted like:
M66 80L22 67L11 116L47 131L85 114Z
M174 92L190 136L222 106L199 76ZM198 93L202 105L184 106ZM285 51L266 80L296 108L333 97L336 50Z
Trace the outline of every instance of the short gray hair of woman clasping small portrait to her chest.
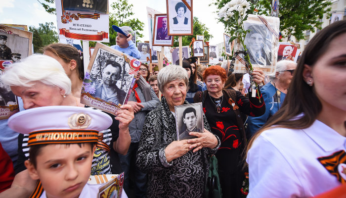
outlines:
M179 65L169 65L162 68L157 75L157 84L160 92L163 93L164 87L167 83L177 79L184 80L186 89L188 89L189 78L184 68Z

